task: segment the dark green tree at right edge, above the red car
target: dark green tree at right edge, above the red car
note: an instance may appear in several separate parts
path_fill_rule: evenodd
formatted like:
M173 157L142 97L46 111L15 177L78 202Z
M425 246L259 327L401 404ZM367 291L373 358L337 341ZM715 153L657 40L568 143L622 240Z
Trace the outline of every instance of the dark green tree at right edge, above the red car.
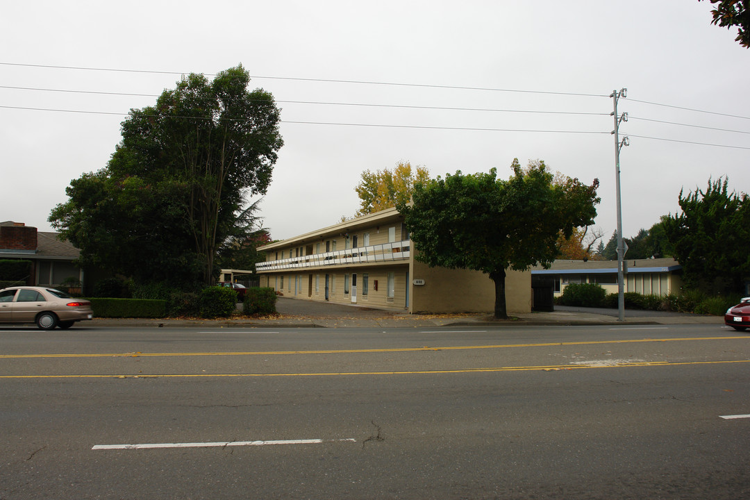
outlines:
M685 285L709 293L743 292L750 280L750 199L730 193L728 178L682 196L682 212L662 217Z

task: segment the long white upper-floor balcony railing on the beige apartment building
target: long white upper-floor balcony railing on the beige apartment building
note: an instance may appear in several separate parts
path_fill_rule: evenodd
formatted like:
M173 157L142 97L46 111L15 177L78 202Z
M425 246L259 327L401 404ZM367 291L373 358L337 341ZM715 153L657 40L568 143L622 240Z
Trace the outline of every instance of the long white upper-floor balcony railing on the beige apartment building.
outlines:
M410 241L394 241L369 247L347 248L335 252L314 253L313 255L290 259L269 260L255 265L257 272L281 271L283 269L320 268L326 265L367 264L409 259Z

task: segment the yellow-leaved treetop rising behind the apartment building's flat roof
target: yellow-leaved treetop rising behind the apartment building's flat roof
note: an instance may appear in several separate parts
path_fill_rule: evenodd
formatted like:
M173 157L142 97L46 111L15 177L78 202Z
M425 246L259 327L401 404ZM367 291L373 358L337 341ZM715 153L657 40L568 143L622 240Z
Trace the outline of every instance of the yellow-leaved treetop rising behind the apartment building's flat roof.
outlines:
M360 205L356 217L408 203L414 186L429 178L428 169L419 165L412 167L408 161L398 162L393 170L365 170L361 181L354 188Z

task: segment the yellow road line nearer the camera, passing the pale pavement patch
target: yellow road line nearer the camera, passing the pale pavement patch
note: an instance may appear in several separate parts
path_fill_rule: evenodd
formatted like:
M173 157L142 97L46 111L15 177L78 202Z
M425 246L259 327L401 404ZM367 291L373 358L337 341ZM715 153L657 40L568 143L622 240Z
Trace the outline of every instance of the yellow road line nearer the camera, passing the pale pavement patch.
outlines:
M385 372L325 372L325 373L177 373L153 375L4 375L0 379L212 379L226 377L313 377L313 376L357 376L357 375L437 375L442 373L495 373L521 371L565 371L590 370L592 368L628 368L628 367L678 367L701 364L736 364L750 363L750 359L730 361L640 361L612 365L601 364L558 364L531 367L495 367L495 368L458 368L455 370L401 370Z

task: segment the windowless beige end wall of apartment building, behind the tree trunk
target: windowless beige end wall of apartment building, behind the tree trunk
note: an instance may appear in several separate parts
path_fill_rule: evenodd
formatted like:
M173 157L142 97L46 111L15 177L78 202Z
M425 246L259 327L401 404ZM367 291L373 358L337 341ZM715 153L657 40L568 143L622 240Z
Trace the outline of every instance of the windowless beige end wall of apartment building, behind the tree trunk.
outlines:
M424 285L414 285L424 280ZM464 269L431 268L413 260L410 266L413 313L492 313L495 284L487 274ZM531 272L506 271L505 308L508 313L530 313Z

